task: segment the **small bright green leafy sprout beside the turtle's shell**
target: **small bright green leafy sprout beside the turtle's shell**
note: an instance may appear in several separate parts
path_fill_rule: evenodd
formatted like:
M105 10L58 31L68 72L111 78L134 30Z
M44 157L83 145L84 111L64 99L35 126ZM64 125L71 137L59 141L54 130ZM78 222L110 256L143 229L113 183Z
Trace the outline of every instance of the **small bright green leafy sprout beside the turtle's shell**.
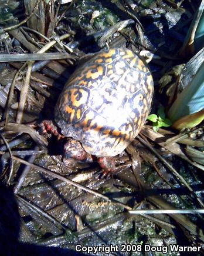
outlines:
M152 122L152 127L155 132L158 131L160 127L169 127L172 125L172 122L168 119L165 118L165 112L163 107L159 107L156 114L151 114L148 116L148 120Z

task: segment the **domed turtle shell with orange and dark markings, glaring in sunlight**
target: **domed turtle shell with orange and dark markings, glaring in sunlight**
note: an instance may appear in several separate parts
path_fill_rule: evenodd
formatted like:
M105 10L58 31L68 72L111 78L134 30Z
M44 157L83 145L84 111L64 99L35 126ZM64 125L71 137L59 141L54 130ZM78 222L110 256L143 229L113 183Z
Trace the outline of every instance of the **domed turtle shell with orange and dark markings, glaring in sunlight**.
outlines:
M124 48L98 52L64 86L56 105L57 125L89 154L120 154L140 132L153 89L140 56Z

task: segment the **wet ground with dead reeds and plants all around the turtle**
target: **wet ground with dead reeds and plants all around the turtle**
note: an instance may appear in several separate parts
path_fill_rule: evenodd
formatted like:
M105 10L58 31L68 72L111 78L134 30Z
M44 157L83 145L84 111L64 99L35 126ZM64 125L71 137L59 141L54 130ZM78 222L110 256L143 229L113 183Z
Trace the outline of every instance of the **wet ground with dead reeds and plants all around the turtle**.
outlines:
M118 245L110 255L127 256L149 255L145 245L158 256L195 247L203 255L203 7L0 0L2 255L74 255L76 245ZM54 118L76 65L109 48L147 62L154 98L140 134L103 177L97 162L64 164L62 139L40 124Z

